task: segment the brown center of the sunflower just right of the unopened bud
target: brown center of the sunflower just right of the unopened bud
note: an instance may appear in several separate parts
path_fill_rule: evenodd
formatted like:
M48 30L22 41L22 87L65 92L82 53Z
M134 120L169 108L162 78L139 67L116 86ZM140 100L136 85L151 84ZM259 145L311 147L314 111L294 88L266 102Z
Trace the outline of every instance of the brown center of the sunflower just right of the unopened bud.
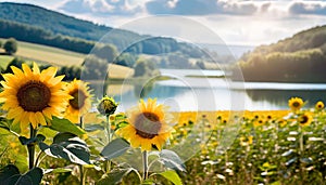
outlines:
M142 113L135 121L136 134L143 138L153 138L159 135L161 122L158 115L153 113Z

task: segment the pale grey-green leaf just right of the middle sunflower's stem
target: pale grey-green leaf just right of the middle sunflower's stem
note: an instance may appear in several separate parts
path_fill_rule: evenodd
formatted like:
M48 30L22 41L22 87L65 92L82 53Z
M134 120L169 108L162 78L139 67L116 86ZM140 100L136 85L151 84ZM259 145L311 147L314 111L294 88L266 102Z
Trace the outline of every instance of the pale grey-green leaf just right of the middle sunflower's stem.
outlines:
M162 162L166 168L186 171L186 166L179 156L173 150L162 149L161 151L151 151L152 155L159 156L159 161Z

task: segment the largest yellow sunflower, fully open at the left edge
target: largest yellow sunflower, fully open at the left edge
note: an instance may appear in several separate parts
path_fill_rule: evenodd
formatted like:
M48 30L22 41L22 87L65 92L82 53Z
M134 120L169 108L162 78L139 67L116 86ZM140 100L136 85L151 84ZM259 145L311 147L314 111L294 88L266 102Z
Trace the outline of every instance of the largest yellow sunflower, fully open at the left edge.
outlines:
M52 116L61 116L71 96L63 91L64 76L54 77L57 67L42 71L34 63L33 70L23 64L23 70L11 66L13 74L3 75L3 91L0 93L2 108L8 110L8 118L13 123L21 123L25 130L29 123L47 125Z

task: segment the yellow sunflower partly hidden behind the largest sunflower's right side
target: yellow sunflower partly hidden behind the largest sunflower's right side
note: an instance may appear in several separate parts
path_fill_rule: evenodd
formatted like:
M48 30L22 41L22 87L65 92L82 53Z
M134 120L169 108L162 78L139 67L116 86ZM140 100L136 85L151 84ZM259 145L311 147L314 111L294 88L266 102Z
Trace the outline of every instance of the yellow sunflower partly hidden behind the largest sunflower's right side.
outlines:
M74 79L66 85L67 94L73 96L70 100L64 117L74 123L79 121L79 117L85 115L91 107L91 96L88 83Z

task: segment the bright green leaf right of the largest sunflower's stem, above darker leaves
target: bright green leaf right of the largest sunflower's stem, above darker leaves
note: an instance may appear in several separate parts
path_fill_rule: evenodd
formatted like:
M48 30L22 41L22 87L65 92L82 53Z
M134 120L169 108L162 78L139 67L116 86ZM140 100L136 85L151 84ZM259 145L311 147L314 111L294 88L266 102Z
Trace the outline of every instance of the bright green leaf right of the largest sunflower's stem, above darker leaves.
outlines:
M50 129L59 131L59 132L70 132L75 135L83 135L86 132L80 129L78 125L72 123L67 119L60 119L57 117L52 117Z

